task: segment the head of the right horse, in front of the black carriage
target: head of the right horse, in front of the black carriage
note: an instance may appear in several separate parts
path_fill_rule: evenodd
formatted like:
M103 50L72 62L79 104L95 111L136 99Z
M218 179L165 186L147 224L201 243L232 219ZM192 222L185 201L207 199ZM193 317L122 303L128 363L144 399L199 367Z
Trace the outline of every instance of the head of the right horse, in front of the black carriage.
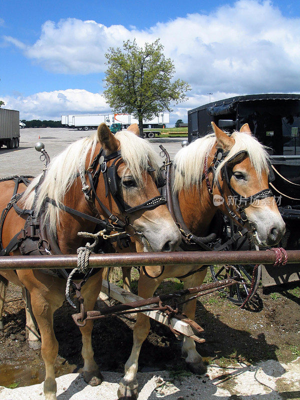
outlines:
M212 195L216 199L220 196L222 212L247 227L255 244L277 244L285 224L268 187L268 154L251 135L247 123L231 136L211 124L216 142L206 161L214 173Z

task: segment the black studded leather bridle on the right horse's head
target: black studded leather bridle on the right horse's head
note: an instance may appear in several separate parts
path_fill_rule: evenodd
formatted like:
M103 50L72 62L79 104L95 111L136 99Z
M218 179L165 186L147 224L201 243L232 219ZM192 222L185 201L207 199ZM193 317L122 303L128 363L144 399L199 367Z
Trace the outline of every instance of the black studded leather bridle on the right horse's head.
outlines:
M209 193L212 194L212 188L211 188L211 184L208 180L208 172L212 172L212 175L213 175L212 182L214 182L214 184L217 186L217 188L220 192L220 195L224 198L224 200L225 200L225 197L224 197L224 193L221 189L220 183L219 183L218 179L214 179L214 176L215 176L216 168L222 161L224 161L225 157L228 154L229 154L229 151L224 151L222 148L217 148L215 151L213 160L210 163L209 168L207 168L208 154L206 155L205 161L204 161L203 175L204 175L204 178L206 181L206 186L207 186ZM235 189L233 189L233 187L231 186L231 183L230 183L231 176L230 176L230 173L228 172L228 164L236 159L245 158L247 155L248 155L248 152L246 150L238 151L236 154L234 154L232 157L228 158L224 162L224 165L222 166L221 171L220 171L221 172L220 173L221 180L225 180L225 182L228 186L228 189L235 200L236 211L239 213L239 216L229 208L226 201L224 201L225 207L226 207L229 215L232 218L234 218L241 225L244 225L245 222L248 220L248 217L244 211L244 208L246 208L248 205L250 205L251 202L253 202L255 200L259 200L259 199L266 198L266 197L273 197L273 193L270 189L263 189L263 190L258 191L255 194L252 194L251 196L244 197L241 194L239 194ZM274 173L272 171L270 162L269 161L267 161L267 162L268 162L268 168L269 168L268 181L270 182L270 181L274 180Z

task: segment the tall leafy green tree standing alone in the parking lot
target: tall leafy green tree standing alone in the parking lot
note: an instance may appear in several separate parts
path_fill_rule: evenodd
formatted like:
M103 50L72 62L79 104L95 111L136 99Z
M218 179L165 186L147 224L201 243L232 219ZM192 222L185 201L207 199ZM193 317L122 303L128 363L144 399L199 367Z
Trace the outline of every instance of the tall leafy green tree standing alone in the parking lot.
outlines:
M103 95L116 112L138 118L139 134L143 134L143 118L153 118L170 104L186 100L188 83L176 79L173 62L165 58L159 39L139 47L135 41L123 42L123 50L110 47L105 54L105 90Z

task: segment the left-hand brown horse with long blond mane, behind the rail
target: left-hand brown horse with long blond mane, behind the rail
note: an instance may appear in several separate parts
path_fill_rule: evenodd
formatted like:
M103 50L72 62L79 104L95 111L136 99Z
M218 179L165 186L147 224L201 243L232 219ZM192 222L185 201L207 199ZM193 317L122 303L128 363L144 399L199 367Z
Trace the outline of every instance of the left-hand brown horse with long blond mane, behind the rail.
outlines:
M101 203L111 213L110 216L114 215L122 221L125 231L139 242L141 249L149 244L154 251L170 251L180 242L179 231L166 205L161 201L155 185L158 171L156 153L149 143L136 136L131 129L134 131L136 127L129 127L114 136L105 124L101 124L96 135L72 143L50 162L44 180L38 187L37 196L35 187L39 176L34 178L27 188L24 184L19 185L18 192L25 191L18 200L18 206L30 208L34 201L34 209L38 213L45 201L48 201L44 218L63 254L75 253L76 249L84 244L84 239L77 235L79 231L93 232L96 227L95 222L84 219L81 214L69 214L66 212L66 207L91 217L109 218L109 215L105 215ZM106 190L105 196L102 173L99 173L94 192L94 196L100 202L87 201L82 193L86 187L82 187L81 177L86 176L92 160L100 151L103 158L107 159L105 161L107 168L117 159L114 165L115 179L118 181L118 198L123 205L125 204L125 209L116 204L109 190L108 192ZM100 157L97 161L96 167L99 167ZM14 183L11 180L0 182L0 209L4 209L9 203L13 188ZM51 198L51 201L46 200L47 198ZM152 205L153 199L158 199L156 205ZM2 246L5 248L23 227L24 219L11 208L3 223ZM19 255L19 248L10 254ZM65 298L65 280L37 269L1 270L0 274L9 281L25 287L30 293L32 311L40 331L41 355L46 370L44 394L46 400L55 400L54 361L58 343L53 331L53 312L62 305ZM2 279L2 283L3 281L5 280ZM85 310L93 309L101 282L102 269L99 269L82 286ZM80 327L84 359L83 374L84 379L90 384L99 384L101 374L93 358L91 329L92 321L87 321L85 326Z

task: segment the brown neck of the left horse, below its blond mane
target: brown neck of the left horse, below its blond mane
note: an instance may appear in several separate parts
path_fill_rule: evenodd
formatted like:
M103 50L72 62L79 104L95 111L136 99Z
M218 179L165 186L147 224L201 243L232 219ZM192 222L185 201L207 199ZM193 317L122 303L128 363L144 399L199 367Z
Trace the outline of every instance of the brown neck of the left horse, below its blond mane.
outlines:
M63 204L92 215L93 212L81 191L81 180L78 177L66 192ZM62 253L73 253L82 245L83 239L77 235L79 231L93 232L95 224L86 219L59 211L59 224L56 224L57 243Z

